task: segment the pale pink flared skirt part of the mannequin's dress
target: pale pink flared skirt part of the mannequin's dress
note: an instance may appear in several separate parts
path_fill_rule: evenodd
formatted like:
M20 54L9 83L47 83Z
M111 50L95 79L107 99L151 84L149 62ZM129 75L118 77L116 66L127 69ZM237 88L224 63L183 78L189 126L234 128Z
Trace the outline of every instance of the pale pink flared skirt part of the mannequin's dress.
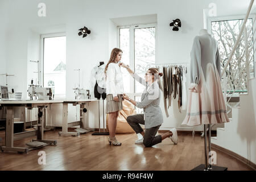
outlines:
M206 75L205 78L201 69L199 84L192 83L189 88L187 115L182 125L229 122L217 68L208 63Z

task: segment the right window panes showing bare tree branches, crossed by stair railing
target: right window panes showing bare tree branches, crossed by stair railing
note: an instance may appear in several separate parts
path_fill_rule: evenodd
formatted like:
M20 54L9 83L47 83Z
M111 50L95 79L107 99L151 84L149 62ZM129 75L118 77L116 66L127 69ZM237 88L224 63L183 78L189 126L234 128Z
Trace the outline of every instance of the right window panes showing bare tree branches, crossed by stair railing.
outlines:
M210 20L210 28L212 36L218 42L218 48L221 58L221 71L223 71L226 61L236 43L237 36L240 33L243 19L226 19L218 18ZM243 32L240 43L237 46L234 56L226 72L225 76L228 78L228 84L222 82L222 88L227 86L227 91L247 92L247 78L254 77L254 43L253 43L253 19L249 18L246 22L246 34ZM247 40L246 40L247 37ZM246 59L246 48L248 45L249 54ZM249 67L246 67L249 65ZM247 74L246 74L247 73ZM224 85L225 84L225 85Z

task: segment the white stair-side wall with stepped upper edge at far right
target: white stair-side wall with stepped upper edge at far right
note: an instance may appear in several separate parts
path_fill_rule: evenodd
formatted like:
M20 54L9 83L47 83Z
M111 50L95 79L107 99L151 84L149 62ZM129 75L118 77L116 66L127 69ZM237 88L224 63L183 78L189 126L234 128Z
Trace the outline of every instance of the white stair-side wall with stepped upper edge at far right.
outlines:
M240 96L241 107L232 109L232 121L217 130L212 143L235 152L256 164L256 79L249 81L249 93Z

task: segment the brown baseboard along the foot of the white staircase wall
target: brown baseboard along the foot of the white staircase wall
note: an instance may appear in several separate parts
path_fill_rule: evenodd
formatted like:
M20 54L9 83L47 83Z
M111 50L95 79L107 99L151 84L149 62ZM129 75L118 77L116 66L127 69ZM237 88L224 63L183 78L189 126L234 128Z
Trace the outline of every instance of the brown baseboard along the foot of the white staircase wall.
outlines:
M233 156L233 158L236 158L238 160L240 160L242 163L245 163L247 164L249 167L253 168L254 170L256 170L256 164L254 164L253 162L251 162L250 160L244 158L243 156L241 155L238 155L236 154L235 152L232 152L226 148L223 148L223 147L220 147L220 146L217 146L217 144L213 144L212 143L212 148L216 148L217 150L221 151L221 152L224 152L225 154L228 154L230 156Z

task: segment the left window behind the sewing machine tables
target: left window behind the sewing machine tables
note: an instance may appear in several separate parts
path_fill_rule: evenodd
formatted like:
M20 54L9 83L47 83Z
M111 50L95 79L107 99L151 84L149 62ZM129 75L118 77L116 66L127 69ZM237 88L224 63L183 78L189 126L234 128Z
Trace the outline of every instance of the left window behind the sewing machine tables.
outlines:
M66 90L66 37L42 35L43 86L52 88L55 98L64 98Z

